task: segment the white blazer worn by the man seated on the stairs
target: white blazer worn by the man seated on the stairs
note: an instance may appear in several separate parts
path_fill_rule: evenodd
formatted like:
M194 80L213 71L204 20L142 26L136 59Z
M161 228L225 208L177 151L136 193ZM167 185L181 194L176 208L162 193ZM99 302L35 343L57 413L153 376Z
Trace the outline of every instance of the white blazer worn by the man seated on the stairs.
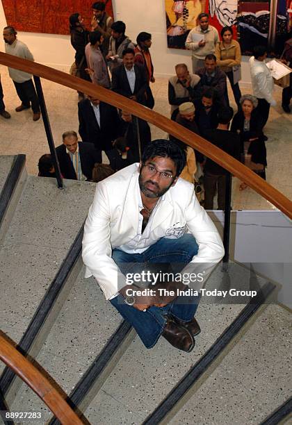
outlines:
M84 226L82 257L86 277L95 276L106 299L125 286L126 279L111 258L112 249L128 244L138 232L138 166L129 165L97 183ZM195 197L193 185L179 178L155 210L147 244L192 233L199 251L191 263L218 263L224 255L220 235ZM142 246L137 246L140 248Z

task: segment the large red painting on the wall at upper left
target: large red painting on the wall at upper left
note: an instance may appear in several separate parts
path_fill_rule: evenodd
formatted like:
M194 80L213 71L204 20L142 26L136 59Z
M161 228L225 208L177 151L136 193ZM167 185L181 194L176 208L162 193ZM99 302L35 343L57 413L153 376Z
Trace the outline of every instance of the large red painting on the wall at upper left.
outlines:
M29 33L69 34L69 17L78 12L90 28L93 0L2 0L8 25ZM111 0L104 0L113 17Z

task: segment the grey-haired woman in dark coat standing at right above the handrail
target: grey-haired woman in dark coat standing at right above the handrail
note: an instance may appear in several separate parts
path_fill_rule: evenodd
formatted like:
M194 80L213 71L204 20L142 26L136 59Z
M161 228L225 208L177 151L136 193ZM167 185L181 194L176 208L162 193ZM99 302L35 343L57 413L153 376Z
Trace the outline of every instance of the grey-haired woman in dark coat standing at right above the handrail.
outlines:
M251 94L244 94L240 103L241 110L234 115L231 131L240 135L241 152L245 165L266 180L267 154L263 135L264 120L257 110L257 98ZM245 188L247 185L241 183L239 190Z

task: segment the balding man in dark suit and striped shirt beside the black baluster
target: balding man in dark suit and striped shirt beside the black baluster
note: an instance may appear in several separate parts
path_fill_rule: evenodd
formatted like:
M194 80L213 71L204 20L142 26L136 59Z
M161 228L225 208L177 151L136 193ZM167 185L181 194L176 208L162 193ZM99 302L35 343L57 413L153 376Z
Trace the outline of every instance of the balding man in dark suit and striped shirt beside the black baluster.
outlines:
M64 178L91 180L95 163L102 163L102 153L92 143L78 142L76 131L66 131L63 144L56 148L60 172Z

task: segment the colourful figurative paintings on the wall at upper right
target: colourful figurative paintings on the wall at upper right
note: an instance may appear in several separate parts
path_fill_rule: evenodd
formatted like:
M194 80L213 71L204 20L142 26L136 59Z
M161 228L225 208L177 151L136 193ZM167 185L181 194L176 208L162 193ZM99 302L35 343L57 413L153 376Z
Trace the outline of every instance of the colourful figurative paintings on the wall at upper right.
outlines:
M206 12L219 33L223 26L233 27L243 54L251 55L253 46L261 44L270 56L280 56L291 38L291 7L292 0L165 0L168 47L185 49L197 16Z

